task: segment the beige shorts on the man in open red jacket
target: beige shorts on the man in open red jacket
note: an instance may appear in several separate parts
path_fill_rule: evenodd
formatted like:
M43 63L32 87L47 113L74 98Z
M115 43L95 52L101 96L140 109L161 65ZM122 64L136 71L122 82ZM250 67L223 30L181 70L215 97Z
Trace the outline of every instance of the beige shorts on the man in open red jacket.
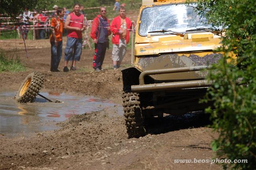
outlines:
M126 39L119 39L119 44L113 44L112 60L122 61L126 53Z

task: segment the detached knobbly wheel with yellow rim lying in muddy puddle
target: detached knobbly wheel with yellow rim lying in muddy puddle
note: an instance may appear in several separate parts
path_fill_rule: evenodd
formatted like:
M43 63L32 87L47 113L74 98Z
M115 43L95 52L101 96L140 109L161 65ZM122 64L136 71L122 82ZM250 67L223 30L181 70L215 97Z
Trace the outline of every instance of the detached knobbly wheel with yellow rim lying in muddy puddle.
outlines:
M30 73L22 82L15 99L20 103L34 102L43 82L44 77L39 72Z

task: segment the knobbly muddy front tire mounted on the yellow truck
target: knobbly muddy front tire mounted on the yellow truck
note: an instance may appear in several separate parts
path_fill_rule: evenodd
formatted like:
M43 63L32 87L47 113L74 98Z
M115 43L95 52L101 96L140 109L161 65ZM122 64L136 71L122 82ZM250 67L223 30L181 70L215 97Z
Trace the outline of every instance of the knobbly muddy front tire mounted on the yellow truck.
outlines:
M144 120L140 107L139 94L123 92L123 108L128 138L139 138L146 135Z

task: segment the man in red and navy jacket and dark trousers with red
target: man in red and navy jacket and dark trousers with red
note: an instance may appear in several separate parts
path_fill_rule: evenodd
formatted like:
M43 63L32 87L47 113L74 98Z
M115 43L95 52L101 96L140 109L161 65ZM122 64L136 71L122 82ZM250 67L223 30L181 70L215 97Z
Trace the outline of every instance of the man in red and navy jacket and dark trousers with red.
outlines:
M93 57L93 68L96 72L103 70L102 64L109 48L108 36L111 34L110 22L106 17L106 7L100 7L100 15L93 19L91 27L91 38L95 43L95 54Z

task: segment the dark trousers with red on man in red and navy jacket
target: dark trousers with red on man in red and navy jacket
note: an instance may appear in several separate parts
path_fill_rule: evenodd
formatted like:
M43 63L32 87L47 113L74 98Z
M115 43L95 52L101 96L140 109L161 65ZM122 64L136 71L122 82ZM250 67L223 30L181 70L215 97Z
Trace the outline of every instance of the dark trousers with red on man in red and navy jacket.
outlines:
M95 54L93 57L93 68L94 69L96 69L96 68L101 69L101 66L102 66L104 58L105 58L107 47L108 47L108 42L95 44Z

